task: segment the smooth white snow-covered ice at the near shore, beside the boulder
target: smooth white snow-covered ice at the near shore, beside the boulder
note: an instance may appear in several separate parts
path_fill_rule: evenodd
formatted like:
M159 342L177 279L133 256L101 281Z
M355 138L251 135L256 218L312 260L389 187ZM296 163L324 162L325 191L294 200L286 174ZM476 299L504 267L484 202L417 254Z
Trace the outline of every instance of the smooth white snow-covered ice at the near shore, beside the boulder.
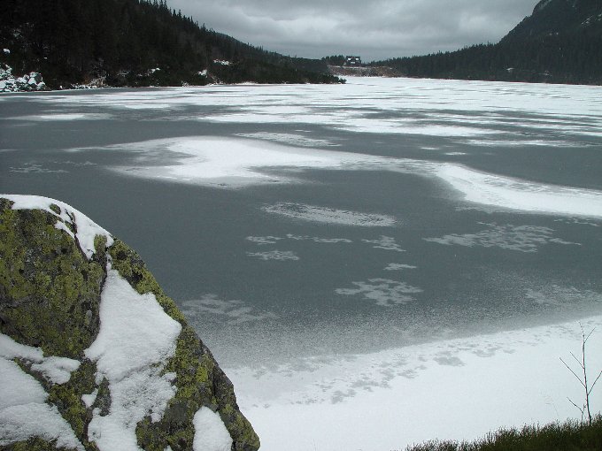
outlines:
M583 327L597 327L588 342L593 374L602 368L602 355L594 351L602 346L602 317L583 320ZM572 322L308 358L306 370L226 371L262 450L404 449L580 417L567 396L581 401L581 386L559 360L580 354L580 333ZM602 391L591 401L599 409Z

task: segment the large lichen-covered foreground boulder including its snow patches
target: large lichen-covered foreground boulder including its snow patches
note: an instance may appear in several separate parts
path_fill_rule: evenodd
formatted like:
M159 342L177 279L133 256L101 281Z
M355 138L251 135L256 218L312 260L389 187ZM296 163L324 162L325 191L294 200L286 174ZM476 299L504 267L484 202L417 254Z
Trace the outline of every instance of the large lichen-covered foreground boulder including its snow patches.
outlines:
M0 195L0 449L254 451L233 386L134 250Z

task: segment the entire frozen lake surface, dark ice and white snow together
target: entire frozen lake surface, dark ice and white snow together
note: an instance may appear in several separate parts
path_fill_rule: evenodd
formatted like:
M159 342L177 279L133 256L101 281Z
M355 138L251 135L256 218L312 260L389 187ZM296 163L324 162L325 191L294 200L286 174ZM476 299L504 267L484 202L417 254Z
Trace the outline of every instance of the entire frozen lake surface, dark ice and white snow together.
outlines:
M602 88L107 89L0 96L0 120L0 192L137 249L262 449L577 416L559 357L580 321L602 345Z

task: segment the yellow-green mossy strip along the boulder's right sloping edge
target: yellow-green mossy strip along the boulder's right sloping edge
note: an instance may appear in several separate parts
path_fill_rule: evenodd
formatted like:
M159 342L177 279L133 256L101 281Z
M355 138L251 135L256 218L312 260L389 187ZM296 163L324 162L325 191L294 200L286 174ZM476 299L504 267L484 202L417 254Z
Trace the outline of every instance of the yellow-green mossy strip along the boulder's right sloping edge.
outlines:
M142 258L117 239L109 248L109 253L112 267L120 272L121 277L127 279L138 293L155 294L167 315L182 325L175 355L168 361L165 370L176 374L177 392L160 421L152 423L147 417L138 424L136 435L140 446L153 450L157 447L162 451L165 447L160 447L166 443L174 451L191 449L194 439L192 418L198 409L208 406L220 413L234 440L235 451L259 449L259 437L236 404L234 386L194 329L186 323L175 302L159 287Z

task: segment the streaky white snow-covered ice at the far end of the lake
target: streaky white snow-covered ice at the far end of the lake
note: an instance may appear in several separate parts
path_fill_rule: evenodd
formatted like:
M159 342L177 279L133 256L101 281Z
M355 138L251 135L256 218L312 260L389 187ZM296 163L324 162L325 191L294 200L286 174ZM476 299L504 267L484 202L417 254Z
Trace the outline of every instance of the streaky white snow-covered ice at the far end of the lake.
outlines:
M559 125L564 134L579 136L600 136L602 128L599 88L567 85L351 77L341 86L209 86L41 98L118 111L227 107L191 119L314 124L363 133L478 135L492 141L500 141L499 134L514 141L533 141L532 131L539 128L545 134ZM399 118L408 116L413 118ZM521 126L524 134L508 134L510 123Z

